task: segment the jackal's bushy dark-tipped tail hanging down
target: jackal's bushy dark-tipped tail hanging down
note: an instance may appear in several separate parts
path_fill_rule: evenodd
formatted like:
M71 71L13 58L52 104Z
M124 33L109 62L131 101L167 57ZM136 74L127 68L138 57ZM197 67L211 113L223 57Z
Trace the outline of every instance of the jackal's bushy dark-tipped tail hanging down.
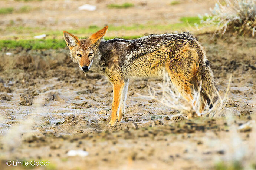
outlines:
M204 100L207 101L210 109L213 107L213 104L216 103L219 99L219 92L214 82L213 72L209 66L209 61L206 59L205 53L201 50L198 53L199 59L201 59L198 64L197 79L201 81L201 95Z

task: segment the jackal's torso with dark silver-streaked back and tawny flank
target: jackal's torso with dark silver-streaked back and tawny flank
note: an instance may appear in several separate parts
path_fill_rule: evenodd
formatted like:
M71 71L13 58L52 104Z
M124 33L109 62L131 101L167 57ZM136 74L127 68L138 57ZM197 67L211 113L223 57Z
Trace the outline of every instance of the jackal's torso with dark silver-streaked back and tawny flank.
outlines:
M122 79L161 77L166 62L175 64L186 50L204 53L197 39L187 32L152 34L134 40L112 39L102 42L100 47L104 53L103 69Z

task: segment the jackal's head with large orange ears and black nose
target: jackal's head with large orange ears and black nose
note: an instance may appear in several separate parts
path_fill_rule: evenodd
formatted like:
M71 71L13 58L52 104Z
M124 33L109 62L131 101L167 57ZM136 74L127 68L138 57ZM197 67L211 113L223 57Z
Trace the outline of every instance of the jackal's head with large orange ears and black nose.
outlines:
M108 26L92 34L86 39L78 39L78 37L70 34L66 31L63 32L63 37L70 49L70 55L73 62L79 64L80 69L83 72L89 71L92 66L97 47L99 46L101 38L108 30Z

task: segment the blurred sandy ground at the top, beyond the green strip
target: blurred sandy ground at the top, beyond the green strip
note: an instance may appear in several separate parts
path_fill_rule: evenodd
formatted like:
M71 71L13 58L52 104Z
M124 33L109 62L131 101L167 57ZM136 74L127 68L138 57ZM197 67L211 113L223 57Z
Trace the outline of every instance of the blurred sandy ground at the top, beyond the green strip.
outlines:
M167 25L180 22L181 17L198 16L209 13L214 7L213 0L180 0L180 4L170 5L170 0L131 0L134 7L127 9L108 8L109 4L123 4L125 0L43 0L43 1L1 1L1 7L13 7L9 15L0 17L0 36L9 38L29 36L30 33L47 31L64 31L88 28L89 26L104 27L132 26L134 24ZM83 4L96 6L95 11L78 10ZM28 6L29 12L19 12ZM20 29L22 27L22 29ZM135 32L136 31L136 32ZM150 32L148 32L150 31ZM150 30L120 30L108 33L108 36L128 36L145 33L157 33ZM166 31L166 30L165 30ZM88 36L87 34L83 36Z

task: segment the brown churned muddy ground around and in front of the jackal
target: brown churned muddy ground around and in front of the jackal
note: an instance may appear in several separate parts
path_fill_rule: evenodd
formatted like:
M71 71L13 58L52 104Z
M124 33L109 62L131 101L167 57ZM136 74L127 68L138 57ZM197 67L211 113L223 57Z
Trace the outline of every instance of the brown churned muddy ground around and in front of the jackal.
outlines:
M161 79L131 80L124 119L114 127L108 124L111 83L97 73L85 76L68 49L17 49L9 60L3 50L0 166L10 168L7 160L49 160L58 169L209 169L234 160L253 165L256 41L210 37L198 35L221 96L233 76L220 116L173 116L177 110L140 96L148 96L148 86L158 87ZM252 128L238 130L248 122ZM70 150L88 156L71 157Z

